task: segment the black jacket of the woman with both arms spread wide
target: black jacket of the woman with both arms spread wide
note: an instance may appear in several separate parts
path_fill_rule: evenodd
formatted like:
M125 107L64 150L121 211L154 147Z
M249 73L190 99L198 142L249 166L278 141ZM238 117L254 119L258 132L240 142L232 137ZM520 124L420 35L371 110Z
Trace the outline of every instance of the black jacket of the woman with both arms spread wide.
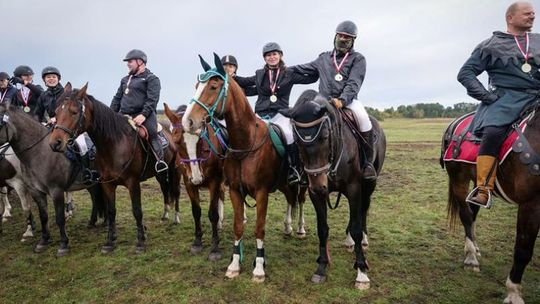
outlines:
M275 77L275 72L274 76ZM291 90L295 84L310 84L317 81L317 77L301 75L299 73L293 73L286 67L282 67L279 78L276 85L276 97L277 101L270 101L272 91L270 89L270 79L268 75L268 68L262 68L255 71L255 76L240 77L235 76L234 79L244 89L246 95L258 95L255 103L255 113L263 117L266 115L274 116L281 109L289 107L289 96ZM253 89L255 88L256 91ZM256 94L253 94L256 93Z

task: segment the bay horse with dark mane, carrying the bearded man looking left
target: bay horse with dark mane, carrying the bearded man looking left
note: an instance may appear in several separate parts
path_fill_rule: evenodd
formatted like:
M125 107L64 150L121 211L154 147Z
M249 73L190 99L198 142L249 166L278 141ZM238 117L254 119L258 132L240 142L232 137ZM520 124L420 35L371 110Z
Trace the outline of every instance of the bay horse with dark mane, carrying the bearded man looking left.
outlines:
M107 241L102 253L110 253L116 247L116 188L125 186L131 198L133 216L137 225L136 253L146 250L146 227L143 225L141 208L141 181L156 176L163 193L164 206L178 203L180 197L179 177L175 167L176 148L170 132L163 130L169 141L164 149L168 170L156 174L155 157L150 146L128 119L111 110L93 96L87 94L88 83L74 89L67 83L56 110L56 125L49 138L50 148L65 151L79 134L87 132L96 146L96 167L107 202L109 221Z

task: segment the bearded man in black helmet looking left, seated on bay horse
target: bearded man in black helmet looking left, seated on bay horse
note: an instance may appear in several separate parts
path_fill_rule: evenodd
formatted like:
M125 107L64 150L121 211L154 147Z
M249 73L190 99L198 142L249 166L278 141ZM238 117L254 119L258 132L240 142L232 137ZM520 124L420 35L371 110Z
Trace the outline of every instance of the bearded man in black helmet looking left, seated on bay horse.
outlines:
M129 51L124 61L127 61L128 75L120 81L111 109L133 117L136 125L146 128L157 158L155 169L157 172L165 171L168 166L163 161L163 147L157 134L156 107L161 90L159 78L146 68L147 57L141 50Z

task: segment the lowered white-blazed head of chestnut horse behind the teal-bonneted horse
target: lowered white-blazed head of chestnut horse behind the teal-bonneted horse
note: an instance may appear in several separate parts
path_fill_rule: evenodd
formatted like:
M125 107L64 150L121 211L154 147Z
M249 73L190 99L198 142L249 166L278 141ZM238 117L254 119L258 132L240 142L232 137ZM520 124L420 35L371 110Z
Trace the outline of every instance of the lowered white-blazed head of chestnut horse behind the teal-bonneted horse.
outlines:
M186 106L179 107L173 112L168 104L165 106L165 115L171 121L171 133L173 141L178 148L178 160L184 168L189 181L194 185L199 185L204 180L204 170L201 168L201 162L198 160L197 144L199 137L197 135L184 131L182 127L182 117L187 109Z

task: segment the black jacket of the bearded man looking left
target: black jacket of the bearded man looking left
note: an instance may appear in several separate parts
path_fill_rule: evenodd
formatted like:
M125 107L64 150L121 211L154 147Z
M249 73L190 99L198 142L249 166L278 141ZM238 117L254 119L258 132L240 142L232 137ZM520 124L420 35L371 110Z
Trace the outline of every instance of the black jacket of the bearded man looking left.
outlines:
M142 114L144 117L156 112L161 84L159 78L149 69L139 75L133 75L126 94L129 75L122 78L116 95L111 102L111 109L122 114Z

